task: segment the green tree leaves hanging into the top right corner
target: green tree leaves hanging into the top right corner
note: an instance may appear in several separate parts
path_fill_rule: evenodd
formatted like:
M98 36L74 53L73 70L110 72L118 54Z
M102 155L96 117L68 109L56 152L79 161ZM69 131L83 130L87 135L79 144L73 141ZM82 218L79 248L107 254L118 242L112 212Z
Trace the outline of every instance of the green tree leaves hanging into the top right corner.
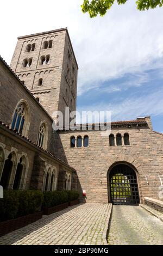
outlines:
M125 4L127 0L116 0L118 4ZM81 5L83 13L89 13L90 17L96 17L98 14L104 16L114 4L115 0L84 0ZM140 11L162 7L163 0L137 0L137 9Z

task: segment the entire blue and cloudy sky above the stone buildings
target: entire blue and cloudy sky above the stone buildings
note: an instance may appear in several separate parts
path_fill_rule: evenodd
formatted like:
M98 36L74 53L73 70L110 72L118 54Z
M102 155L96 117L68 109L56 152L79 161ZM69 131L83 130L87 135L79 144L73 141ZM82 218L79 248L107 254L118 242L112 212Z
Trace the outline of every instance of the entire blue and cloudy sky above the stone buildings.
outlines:
M140 12L130 0L90 19L82 2L28 0L24 8L22 0L2 1L1 38L10 40L0 40L1 56L10 64L17 36L68 27L78 110L111 110L111 120L151 115L153 129L163 132L163 8Z

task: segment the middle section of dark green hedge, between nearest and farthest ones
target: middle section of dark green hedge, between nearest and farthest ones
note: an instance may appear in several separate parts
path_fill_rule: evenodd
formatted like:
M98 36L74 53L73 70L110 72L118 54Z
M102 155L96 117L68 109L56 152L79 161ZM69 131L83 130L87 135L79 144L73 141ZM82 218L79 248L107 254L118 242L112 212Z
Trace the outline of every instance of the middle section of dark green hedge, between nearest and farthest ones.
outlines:
M43 193L43 207L53 207L68 202L68 194L65 191L48 191Z

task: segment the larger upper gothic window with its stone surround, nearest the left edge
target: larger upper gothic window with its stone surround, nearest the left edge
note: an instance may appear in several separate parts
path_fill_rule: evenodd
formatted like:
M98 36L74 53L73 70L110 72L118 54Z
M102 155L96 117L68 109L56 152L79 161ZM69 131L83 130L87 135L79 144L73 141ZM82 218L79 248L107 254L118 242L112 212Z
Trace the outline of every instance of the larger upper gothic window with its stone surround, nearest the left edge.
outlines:
M11 128L16 130L23 136L27 136L30 125L30 113L26 101L21 101L16 106L14 116L12 119Z

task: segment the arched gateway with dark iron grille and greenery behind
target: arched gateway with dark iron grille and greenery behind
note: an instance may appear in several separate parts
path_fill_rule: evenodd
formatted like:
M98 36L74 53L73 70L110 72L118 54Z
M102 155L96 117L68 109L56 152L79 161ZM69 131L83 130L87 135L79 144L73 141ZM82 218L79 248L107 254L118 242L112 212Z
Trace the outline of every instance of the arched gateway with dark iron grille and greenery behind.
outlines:
M127 164L117 164L109 173L111 203L116 205L138 205L139 188L135 170Z

